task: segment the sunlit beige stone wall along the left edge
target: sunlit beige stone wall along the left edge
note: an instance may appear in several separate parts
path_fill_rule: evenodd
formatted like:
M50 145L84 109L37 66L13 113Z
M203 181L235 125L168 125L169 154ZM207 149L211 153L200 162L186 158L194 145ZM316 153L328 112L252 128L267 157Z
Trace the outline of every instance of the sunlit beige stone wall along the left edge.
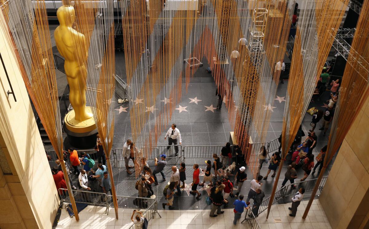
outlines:
M0 169L0 228L51 228L59 197L20 71L3 42L3 57L17 102L0 63L0 147L11 173ZM6 169L4 169L5 171Z

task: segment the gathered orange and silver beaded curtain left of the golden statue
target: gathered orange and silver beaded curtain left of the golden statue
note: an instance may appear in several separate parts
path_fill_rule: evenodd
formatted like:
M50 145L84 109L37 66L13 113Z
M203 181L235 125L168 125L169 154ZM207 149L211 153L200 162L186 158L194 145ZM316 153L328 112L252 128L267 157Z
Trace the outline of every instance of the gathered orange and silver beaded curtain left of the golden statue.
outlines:
M45 2L13 0L7 1L1 8L0 27L9 32L5 33L3 40L12 44L12 54L17 59L15 64L20 68L28 94L61 161L73 212L78 221L78 212L63 160L58 88Z

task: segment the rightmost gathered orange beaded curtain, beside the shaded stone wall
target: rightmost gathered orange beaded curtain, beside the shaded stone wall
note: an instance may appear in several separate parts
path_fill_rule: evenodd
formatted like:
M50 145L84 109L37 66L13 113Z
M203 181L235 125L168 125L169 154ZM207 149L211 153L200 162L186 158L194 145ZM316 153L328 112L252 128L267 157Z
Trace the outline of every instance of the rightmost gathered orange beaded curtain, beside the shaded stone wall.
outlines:
M363 141L365 138L359 136L355 138L349 133L350 127L354 123L354 120L358 120L358 114L363 106L368 104L369 96L369 1L364 1L359 15L358 24L356 25L356 31L352 45L350 48L350 54L348 56L345 72L342 77L341 86L339 89L339 96L337 106L335 108L334 117L332 121L331 131L328 139L327 152L323 162L323 169L320 172L318 180L315 184L315 189L311 194L311 198L306 207L303 218L306 218L310 209L310 205L313 202L320 180L323 177L324 171L332 161L332 158L341 147L344 138L351 141ZM368 106L368 105L367 105ZM360 121L357 123L360 125ZM358 144L360 145L360 144ZM329 179L329 178L328 178Z

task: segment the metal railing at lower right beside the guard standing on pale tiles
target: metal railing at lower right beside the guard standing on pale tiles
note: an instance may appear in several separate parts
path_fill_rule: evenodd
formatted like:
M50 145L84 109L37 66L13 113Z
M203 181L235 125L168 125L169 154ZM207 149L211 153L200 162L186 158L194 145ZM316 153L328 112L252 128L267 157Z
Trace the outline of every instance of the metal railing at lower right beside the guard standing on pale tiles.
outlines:
M325 182L327 181L327 178L328 178L328 176L324 176L320 181L320 185L319 185L319 188L318 188L318 191L320 193L323 190L323 187L325 185ZM291 198L288 198L288 197L296 194L297 191L301 187L304 187L304 189L305 189L304 195L310 193L311 191L313 191L317 179L318 178L311 179L311 180L304 180L302 182L297 182L297 183L289 184L287 186L282 187L281 189L276 191L275 198L274 198L272 204L275 204L275 203L286 204L288 202L291 202ZM268 209L269 200L270 200L270 196L262 201L262 203L259 206L259 212L258 212L258 214L256 214L256 216L261 214L266 209Z

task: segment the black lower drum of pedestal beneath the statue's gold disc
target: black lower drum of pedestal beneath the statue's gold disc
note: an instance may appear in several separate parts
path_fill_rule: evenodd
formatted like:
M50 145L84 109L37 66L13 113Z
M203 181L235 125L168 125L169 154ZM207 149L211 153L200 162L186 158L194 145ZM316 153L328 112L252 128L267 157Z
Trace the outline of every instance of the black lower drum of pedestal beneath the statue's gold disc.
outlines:
M68 130L64 124L63 130L67 134L70 145L72 145L74 148L90 149L96 145L97 128L86 133L74 133Z

